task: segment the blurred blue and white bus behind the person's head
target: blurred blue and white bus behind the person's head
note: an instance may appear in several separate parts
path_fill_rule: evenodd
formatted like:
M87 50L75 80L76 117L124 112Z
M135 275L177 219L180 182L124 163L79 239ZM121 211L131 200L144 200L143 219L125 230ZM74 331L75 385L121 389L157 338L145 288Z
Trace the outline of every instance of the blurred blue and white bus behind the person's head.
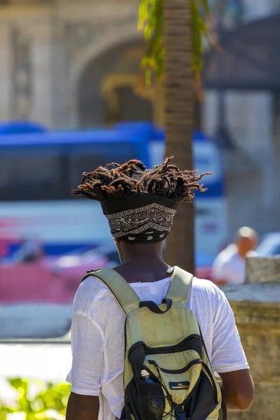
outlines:
M207 193L195 200L197 249L213 260L227 235L221 157L199 132L194 152L195 167L214 172L204 181ZM150 123L69 132L33 124L0 127L0 243L29 236L61 255L107 241L99 204L73 197L71 188L98 165L138 158L152 167L164 155L164 132Z

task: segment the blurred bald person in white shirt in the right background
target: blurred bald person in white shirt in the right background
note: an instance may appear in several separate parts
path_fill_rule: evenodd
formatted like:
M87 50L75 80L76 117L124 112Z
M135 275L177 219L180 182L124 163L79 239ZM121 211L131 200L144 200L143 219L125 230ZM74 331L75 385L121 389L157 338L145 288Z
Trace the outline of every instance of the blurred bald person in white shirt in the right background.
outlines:
M237 231L235 244L218 254L212 267L211 278L218 285L241 284L245 281L245 258L257 255L258 235L251 228Z

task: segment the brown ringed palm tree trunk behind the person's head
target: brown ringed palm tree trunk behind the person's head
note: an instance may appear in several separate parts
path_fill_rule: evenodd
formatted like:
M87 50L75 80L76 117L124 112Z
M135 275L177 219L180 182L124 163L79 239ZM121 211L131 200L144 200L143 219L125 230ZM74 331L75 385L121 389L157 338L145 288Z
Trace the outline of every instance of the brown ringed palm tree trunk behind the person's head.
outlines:
M163 0L165 47L166 155L180 169L193 169L194 80L192 69L192 0ZM167 240L169 265L194 272L193 205L179 206Z

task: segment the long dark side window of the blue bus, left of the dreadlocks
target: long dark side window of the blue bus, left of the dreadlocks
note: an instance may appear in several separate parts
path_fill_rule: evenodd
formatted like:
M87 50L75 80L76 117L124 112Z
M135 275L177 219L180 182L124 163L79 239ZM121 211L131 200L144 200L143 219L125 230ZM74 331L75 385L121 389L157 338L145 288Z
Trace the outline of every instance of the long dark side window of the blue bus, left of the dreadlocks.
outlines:
M28 151L10 148L0 157L0 200L69 200L75 198L71 188L80 183L83 172L135 158L137 149L132 142L76 143L63 149L29 146Z

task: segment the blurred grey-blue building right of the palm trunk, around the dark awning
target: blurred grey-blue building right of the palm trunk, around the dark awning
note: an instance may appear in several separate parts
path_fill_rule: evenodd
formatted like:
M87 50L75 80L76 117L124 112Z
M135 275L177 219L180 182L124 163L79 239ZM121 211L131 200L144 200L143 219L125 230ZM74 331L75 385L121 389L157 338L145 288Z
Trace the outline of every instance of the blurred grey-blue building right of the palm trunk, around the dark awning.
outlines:
M234 29L237 25L237 31L240 24L246 25L279 13L280 6L279 0L228 0L231 7L227 13L226 9L221 8L225 1L211 2L216 6L216 14L220 13L223 29ZM255 50L254 43L258 42L257 30L257 36L251 39L251 51ZM251 55L250 51L248 55ZM272 69L277 65L268 54L264 55L263 64ZM231 66L234 67L233 62ZM255 66L258 66L257 60ZM235 71L233 69L232 73ZM277 71L275 67L274 71ZM255 91L246 90L246 87L244 90L225 88L222 91L222 104L220 95L221 91L207 90L203 125L204 130L214 136L217 136L222 125L226 137L222 140L228 141L223 153L230 235L234 235L240 225L250 225L260 235L280 230L279 93L261 86Z

